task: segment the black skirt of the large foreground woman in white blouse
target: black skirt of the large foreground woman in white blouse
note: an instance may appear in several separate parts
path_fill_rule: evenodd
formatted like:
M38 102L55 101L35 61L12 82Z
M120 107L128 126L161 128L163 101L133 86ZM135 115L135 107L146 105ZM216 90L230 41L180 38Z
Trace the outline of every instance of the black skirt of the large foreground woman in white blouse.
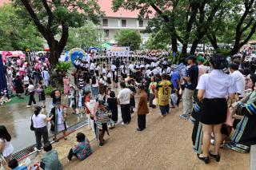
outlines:
M205 98L202 102L200 121L206 125L219 125L226 122L226 98Z

